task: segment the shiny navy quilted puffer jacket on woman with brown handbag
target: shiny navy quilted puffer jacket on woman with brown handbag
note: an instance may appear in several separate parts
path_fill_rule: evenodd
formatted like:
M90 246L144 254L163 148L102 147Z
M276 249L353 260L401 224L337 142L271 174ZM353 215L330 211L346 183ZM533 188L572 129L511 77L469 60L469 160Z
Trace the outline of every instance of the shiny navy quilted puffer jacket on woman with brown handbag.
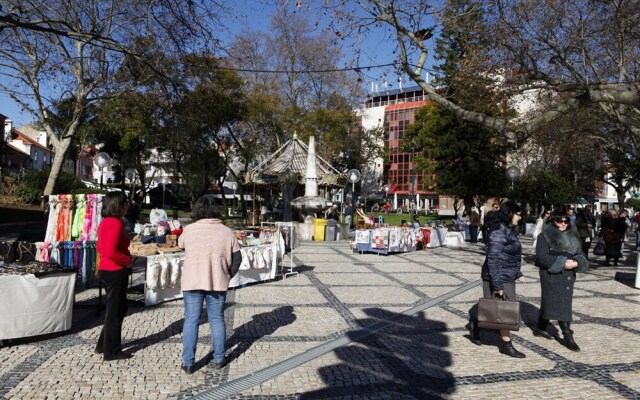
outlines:
M491 290L502 290L504 282L514 283L522 276L522 245L518 236L504 222L490 227L487 257L482 265L482 279L491 283Z

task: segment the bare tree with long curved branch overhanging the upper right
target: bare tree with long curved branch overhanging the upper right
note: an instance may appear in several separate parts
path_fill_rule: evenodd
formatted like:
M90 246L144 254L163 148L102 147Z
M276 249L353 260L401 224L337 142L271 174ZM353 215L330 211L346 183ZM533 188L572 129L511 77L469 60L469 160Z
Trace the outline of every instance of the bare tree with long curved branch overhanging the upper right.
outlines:
M338 37L366 40L382 31L397 44L398 68L429 97L459 118L495 129L508 138L525 137L555 118L598 104L620 123L640 129L640 3L638 0L481 0L487 17L478 35L486 46L481 70L493 76L495 90L512 96L537 90L553 99L534 117L515 123L465 109L425 80L429 39L437 33L443 4L433 0L335 0L320 7ZM450 16L449 18L456 18ZM365 39L363 39L365 38ZM515 73L513 73L515 72Z

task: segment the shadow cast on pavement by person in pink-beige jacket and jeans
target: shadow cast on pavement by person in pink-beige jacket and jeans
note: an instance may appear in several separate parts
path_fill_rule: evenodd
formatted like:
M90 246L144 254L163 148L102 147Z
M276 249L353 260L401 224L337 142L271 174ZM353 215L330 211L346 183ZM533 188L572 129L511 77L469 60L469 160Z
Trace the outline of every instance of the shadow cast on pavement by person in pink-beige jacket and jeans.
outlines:
M248 321L233 330L233 335L227 339L226 347L235 348L227 355L227 361L235 360L247 351L260 338L272 335L278 328L292 324L296 320L293 306L282 306L275 310L256 314ZM196 365L207 364L213 359L209 351Z

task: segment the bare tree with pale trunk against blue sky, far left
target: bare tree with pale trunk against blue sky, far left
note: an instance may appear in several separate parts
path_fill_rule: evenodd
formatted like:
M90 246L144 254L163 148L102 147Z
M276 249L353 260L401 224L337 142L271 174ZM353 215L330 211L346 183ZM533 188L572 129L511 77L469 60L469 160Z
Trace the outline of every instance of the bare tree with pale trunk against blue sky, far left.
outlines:
M117 92L114 78L127 58L137 55L137 38L167 52L208 49L220 6L196 0L3 2L0 89L37 117L52 143L55 157L45 195L53 191L87 106ZM56 130L47 109L64 98L73 99L73 112Z

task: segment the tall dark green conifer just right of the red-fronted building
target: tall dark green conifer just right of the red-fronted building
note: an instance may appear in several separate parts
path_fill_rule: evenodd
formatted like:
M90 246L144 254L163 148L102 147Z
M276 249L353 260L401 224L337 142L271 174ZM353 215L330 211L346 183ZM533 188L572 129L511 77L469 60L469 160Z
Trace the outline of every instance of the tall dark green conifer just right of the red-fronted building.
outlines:
M447 2L446 21L436 40L441 92L451 101L474 110L498 114L495 93L461 73L461 66L474 59L482 43L473 30L482 20L475 1ZM405 148L419 151L417 168L426 172L426 182L437 193L463 199L467 211L482 199L505 193L507 183L502 159L506 146L487 128L467 123L444 107L431 103L416 114L407 131ZM457 204L457 202L456 202Z

